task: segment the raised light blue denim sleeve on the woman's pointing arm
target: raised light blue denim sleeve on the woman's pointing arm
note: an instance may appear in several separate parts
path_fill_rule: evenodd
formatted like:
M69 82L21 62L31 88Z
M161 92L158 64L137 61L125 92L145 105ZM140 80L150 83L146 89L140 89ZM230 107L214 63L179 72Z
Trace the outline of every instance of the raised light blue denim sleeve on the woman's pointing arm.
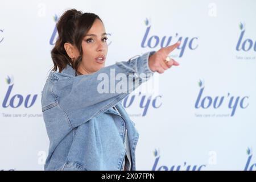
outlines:
M154 52L144 53L142 56L130 59L129 61L117 62L114 65L101 68L99 71L89 75L67 77L55 72L58 81L53 85L52 93L55 94L59 106L67 114L71 127L80 126L93 117L97 117L97 115L113 107L125 98L130 92L141 85L142 82L147 81L154 73L148 67L148 57ZM127 86L126 92L122 93L116 92L115 90L114 92L110 91L110 93L100 93L98 92L98 85L102 82L102 79L99 80L101 73L108 78L108 90L111 90L110 84L113 84L115 88L117 83L120 82L120 80L115 78L118 73L123 73L127 78L127 85L133 86L131 88ZM130 73L135 75L133 79L129 79ZM136 81L139 84L134 84Z

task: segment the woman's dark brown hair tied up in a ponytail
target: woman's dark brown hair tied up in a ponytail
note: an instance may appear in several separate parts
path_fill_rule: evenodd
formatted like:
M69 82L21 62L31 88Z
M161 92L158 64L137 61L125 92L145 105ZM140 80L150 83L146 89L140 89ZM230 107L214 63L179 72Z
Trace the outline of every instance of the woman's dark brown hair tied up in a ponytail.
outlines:
M77 73L77 69L82 61L82 39L90 30L96 18L101 20L94 13L82 13L76 9L67 10L60 16L56 24L59 37L51 51L54 64L52 71L57 71L57 68L59 68L59 72L61 72L69 64ZM71 43L73 46L76 46L80 53L79 57L72 61L65 51L65 43Z

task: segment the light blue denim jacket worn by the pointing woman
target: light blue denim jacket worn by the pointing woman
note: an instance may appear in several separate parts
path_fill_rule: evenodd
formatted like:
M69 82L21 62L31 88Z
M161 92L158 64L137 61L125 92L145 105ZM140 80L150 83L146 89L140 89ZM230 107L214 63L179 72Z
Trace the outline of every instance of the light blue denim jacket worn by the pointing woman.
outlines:
M45 170L121 170L126 154L125 129L130 142L131 170L136 169L135 147L139 134L121 100L150 78L141 77L141 73L153 74L148 67L148 56L154 52L117 62L89 75L76 76L71 65L61 73L49 73L41 100L49 137ZM110 77L110 69L114 69L115 75L125 73L127 78L129 73L137 73L130 80L139 81L139 85L126 93L99 93L97 86L102 80L97 77L100 73Z

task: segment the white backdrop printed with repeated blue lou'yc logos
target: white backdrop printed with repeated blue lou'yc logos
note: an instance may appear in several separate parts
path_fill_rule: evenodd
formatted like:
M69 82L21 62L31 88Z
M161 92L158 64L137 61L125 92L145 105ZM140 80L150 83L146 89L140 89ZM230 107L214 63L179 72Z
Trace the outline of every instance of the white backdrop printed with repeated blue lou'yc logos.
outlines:
M154 76L158 93L134 92L123 102L140 134L138 170L256 170L253 0L1 0L1 170L43 170L41 92L56 19L71 8L104 21L106 65L181 40L171 54L180 66Z

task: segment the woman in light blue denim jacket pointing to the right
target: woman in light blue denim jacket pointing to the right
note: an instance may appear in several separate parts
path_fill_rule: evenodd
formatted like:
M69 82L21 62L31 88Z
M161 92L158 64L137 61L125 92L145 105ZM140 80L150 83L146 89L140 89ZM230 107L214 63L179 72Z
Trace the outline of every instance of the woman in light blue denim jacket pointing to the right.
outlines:
M96 14L65 11L57 22L57 31L59 38L51 52L54 67L42 92L49 137L45 169L135 170L139 134L121 100L154 72L163 73L179 65L168 57L179 42L104 67L108 38ZM122 93L99 92L99 77L108 77L113 71L127 78L134 74L126 82L133 86Z

